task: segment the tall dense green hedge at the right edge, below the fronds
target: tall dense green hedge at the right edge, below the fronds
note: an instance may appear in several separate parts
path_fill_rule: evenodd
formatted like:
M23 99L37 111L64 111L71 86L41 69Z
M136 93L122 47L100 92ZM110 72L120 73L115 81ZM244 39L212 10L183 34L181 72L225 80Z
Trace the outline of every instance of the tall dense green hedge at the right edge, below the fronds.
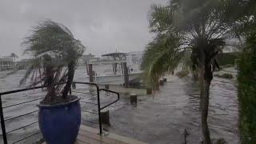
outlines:
M256 143L256 52L238 59L239 133L244 144Z

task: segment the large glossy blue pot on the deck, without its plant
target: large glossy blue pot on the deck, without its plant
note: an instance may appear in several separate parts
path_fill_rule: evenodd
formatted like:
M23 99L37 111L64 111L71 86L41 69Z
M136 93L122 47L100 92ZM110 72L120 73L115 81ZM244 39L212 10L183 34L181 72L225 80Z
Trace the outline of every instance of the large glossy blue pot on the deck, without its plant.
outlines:
M81 124L80 98L57 105L39 104L38 122L47 144L74 144Z

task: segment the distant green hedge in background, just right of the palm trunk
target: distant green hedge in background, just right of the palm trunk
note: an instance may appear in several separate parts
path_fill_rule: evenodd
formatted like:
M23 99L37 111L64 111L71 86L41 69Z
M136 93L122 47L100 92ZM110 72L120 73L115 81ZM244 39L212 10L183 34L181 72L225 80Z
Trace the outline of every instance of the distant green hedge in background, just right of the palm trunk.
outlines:
M238 58L238 52L230 52L230 53L223 53L217 55L218 64L220 66L224 65L234 65L235 59Z

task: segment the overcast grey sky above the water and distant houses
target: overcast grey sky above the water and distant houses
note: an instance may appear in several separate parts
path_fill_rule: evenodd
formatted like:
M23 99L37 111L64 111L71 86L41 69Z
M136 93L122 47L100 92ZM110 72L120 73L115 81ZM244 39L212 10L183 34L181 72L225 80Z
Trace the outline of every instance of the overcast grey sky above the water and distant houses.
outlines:
M21 55L31 26L51 19L67 26L86 54L143 50L150 41L147 14L166 0L0 0L0 55ZM23 48L24 49L24 48Z

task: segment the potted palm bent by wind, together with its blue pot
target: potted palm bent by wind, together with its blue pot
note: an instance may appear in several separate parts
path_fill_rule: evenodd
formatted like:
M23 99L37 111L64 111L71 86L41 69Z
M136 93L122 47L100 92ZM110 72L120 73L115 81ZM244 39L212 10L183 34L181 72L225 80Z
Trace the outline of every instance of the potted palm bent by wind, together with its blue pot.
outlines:
M79 98L70 95L78 58L85 46L70 30L47 20L34 26L22 45L30 54L31 66L21 80L30 86L46 86L46 96L38 104L38 122L47 144L73 144L81 123Z

